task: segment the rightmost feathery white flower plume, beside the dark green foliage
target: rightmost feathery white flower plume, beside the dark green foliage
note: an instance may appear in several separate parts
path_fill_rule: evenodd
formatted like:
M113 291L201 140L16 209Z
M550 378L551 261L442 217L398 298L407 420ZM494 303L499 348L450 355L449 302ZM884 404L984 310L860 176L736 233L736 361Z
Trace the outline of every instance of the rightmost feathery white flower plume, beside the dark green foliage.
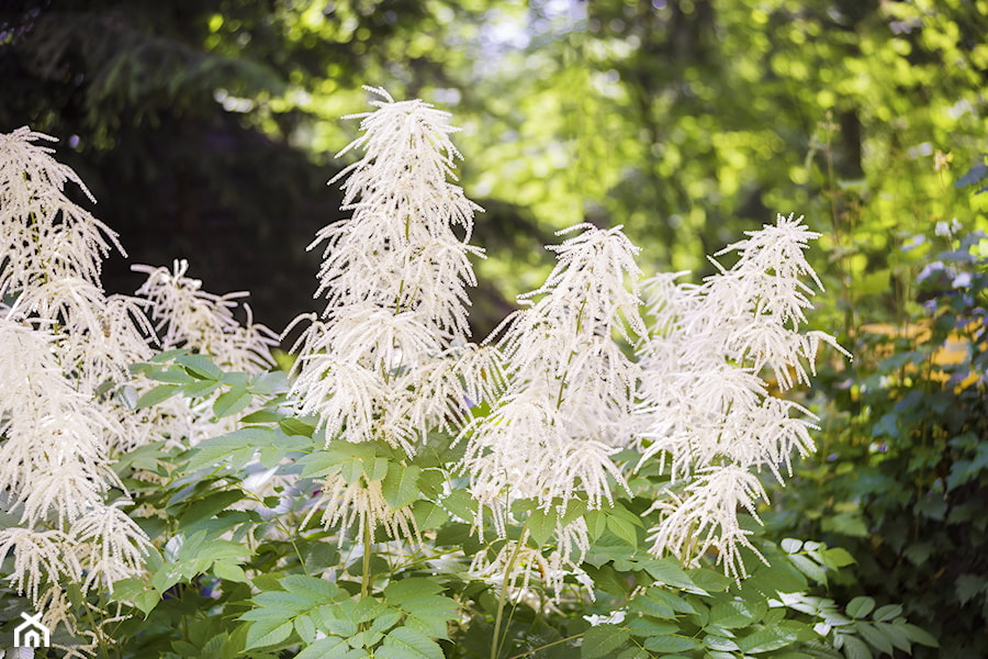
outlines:
M741 548L759 555L741 527L739 510L755 520L765 500L757 472L783 481L793 454L813 450L813 415L771 395L771 371L779 389L808 383L822 332L800 331L812 305L809 279L822 288L804 250L819 234L801 217L748 232L730 269L703 284L676 283L683 273L649 280L651 333L639 346L642 402L638 410L642 461L658 457L669 468L667 498L655 507L652 551L670 551L687 565L716 549L725 571L744 574ZM843 350L842 350L843 351Z

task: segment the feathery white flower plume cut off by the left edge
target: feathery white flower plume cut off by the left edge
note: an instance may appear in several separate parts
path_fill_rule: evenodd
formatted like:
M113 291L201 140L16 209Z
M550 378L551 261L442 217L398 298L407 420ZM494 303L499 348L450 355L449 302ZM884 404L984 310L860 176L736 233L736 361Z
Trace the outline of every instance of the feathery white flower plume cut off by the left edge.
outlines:
M114 390L150 357L151 327L138 302L103 292L116 236L66 196L89 192L38 139L0 135L0 506L18 520L0 557L54 624L64 582L86 592L143 569L147 536L106 495L124 490L112 455L142 432Z

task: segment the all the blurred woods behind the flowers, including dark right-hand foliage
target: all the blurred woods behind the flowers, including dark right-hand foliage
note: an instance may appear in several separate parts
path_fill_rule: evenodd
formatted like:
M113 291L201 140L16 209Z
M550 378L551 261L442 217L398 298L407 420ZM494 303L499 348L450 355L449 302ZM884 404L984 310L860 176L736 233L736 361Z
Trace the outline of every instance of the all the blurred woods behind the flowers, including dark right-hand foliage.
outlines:
M622 224L647 272L703 276L776 212L806 215L811 323L855 360L824 356L806 399L822 451L778 494L777 533L851 548L861 582L837 596L903 602L944 656L975 657L986 35L988 0L0 0L0 132L59 139L130 252L110 291L138 286L130 263L188 258L276 331L319 308L305 246L340 216L326 181L362 85L462 127L486 209L479 337L540 284L559 228Z

